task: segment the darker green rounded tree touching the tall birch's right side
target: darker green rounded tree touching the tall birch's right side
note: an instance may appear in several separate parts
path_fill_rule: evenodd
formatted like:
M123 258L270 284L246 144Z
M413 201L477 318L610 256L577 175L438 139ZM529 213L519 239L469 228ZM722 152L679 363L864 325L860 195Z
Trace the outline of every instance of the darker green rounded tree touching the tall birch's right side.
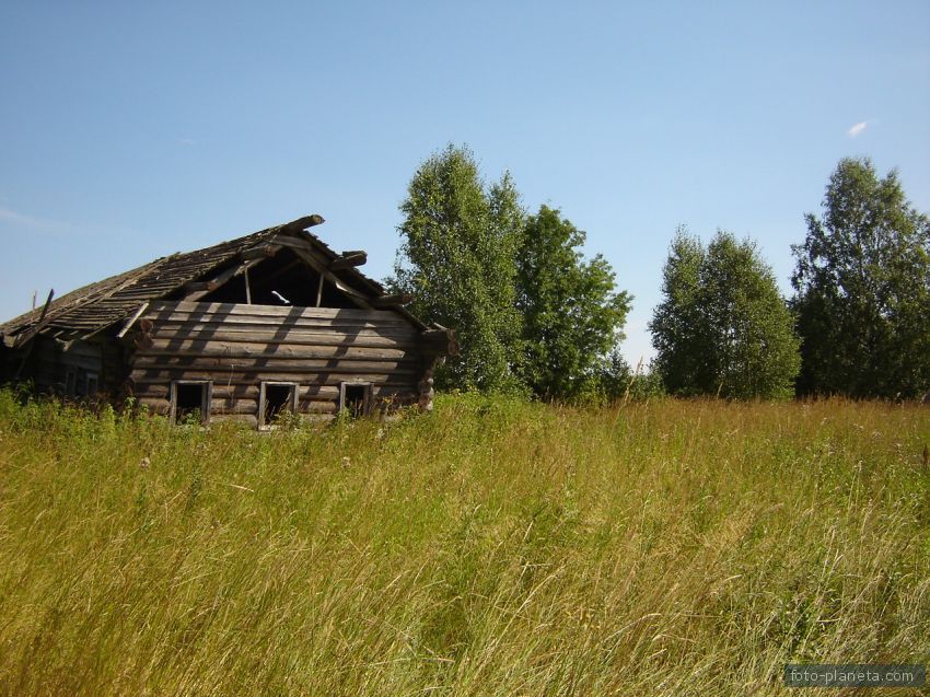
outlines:
M585 262L585 234L542 206L523 228L516 253L516 307L523 315L521 374L544 399L570 399L596 388L608 352L623 338L630 297L600 254Z

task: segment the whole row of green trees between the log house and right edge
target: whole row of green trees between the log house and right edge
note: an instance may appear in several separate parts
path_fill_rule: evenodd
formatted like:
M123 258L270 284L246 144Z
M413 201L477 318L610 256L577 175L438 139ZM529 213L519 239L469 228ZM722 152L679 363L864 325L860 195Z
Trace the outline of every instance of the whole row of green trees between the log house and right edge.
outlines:
M868 159L841 160L823 214L805 216L790 298L754 241L718 231L705 245L679 228L641 374L619 352L632 297L602 255L585 258L584 232L558 208L525 211L509 173L487 183L474 153L450 144L421 163L400 211L387 283L455 328L441 388L546 400L930 390L930 218Z

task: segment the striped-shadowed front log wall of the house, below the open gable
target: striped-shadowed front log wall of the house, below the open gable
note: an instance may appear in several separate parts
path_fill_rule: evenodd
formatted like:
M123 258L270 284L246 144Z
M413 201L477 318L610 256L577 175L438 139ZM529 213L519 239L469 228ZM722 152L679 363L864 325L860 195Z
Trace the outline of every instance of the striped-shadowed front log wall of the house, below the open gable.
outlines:
M298 411L332 418L344 383L372 406L420 404L434 359L405 317L384 310L153 302L126 336L139 403L171 414L173 381L211 383L210 418L259 425L263 382L295 383Z

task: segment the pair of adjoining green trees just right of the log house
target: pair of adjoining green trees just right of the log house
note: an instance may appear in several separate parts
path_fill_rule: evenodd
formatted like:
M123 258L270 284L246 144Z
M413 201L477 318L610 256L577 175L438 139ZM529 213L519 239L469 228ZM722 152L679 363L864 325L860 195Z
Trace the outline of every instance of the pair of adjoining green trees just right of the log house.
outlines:
M623 337L630 299L557 209L526 216L508 173L487 185L467 148L449 146L415 173L400 205L394 289L454 328L460 356L439 386L571 399L596 390Z

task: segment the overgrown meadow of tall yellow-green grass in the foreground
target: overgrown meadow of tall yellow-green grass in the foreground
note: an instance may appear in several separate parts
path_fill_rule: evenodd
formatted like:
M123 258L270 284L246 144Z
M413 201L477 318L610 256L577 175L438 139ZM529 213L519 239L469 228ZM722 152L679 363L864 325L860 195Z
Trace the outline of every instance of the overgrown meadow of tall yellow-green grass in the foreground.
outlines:
M877 403L442 396L268 435L2 392L0 694L778 695L786 662L927 662L928 443L930 408Z

